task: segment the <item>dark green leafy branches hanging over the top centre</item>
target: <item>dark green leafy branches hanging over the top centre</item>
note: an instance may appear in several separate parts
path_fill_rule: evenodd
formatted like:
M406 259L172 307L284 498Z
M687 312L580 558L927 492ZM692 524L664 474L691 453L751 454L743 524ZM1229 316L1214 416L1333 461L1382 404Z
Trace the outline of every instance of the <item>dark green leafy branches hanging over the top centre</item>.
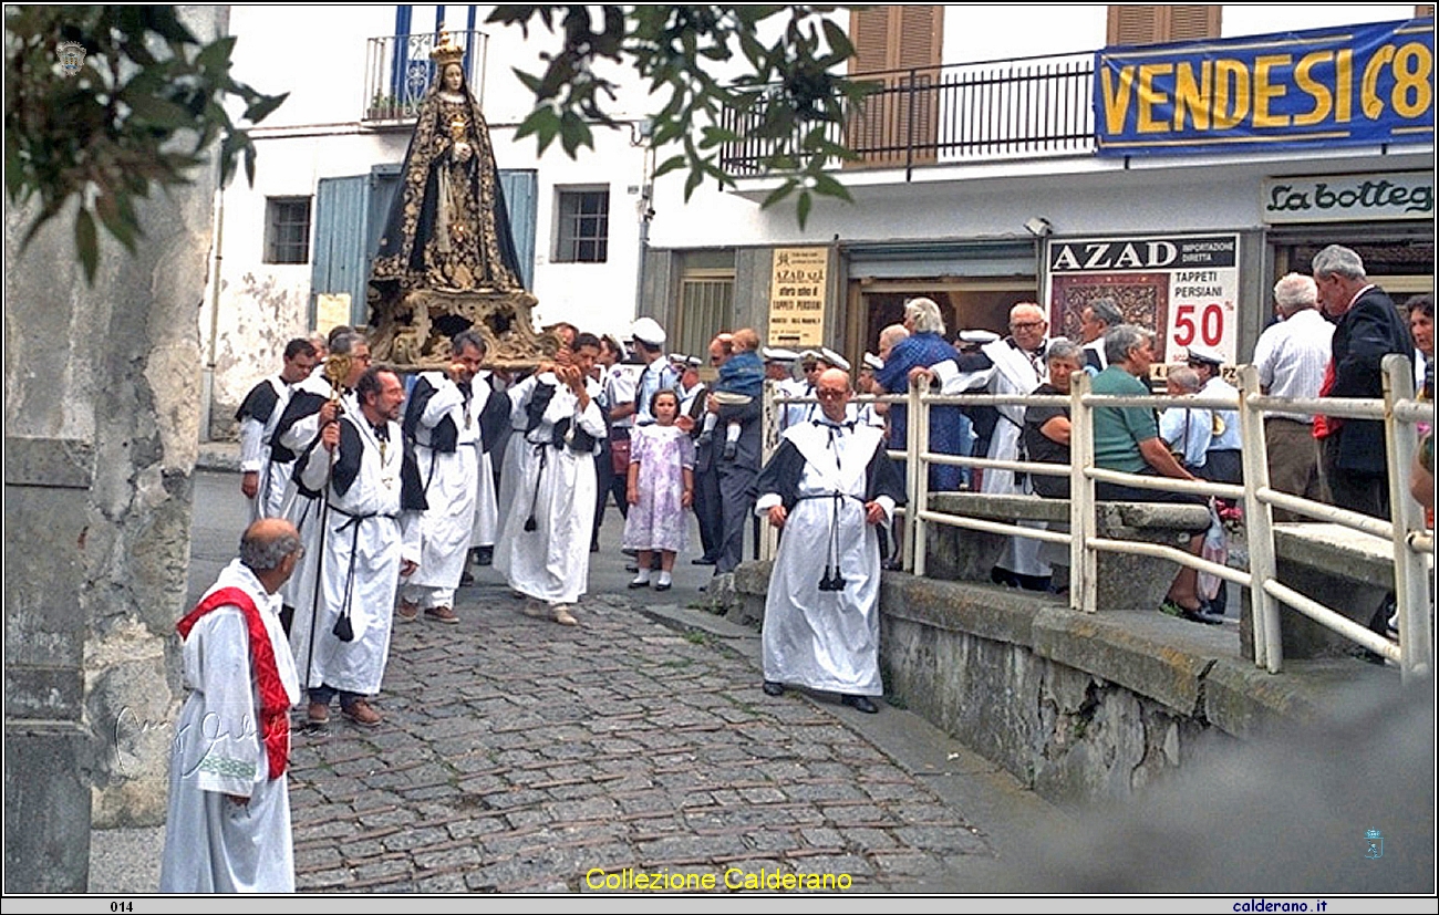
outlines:
M541 55L544 73L517 70L535 95L535 108L517 137L534 135L540 152L560 141L574 157L593 148L590 124L616 127L607 111L617 86L594 72L600 60L635 68L648 81L659 111L649 142L679 145L655 177L688 170L685 200L705 181L732 187L721 165L735 144L760 140L763 154L750 174L780 176L761 206L796 197L803 227L814 197L850 200L827 173L853 158L843 144L846 112L868 91L839 68L853 45L832 14L837 6L496 6L488 22L558 32L558 50ZM599 20L599 27L596 27ZM774 36L761 37L761 36ZM740 66L743 65L743 66ZM712 73L735 75L721 82Z

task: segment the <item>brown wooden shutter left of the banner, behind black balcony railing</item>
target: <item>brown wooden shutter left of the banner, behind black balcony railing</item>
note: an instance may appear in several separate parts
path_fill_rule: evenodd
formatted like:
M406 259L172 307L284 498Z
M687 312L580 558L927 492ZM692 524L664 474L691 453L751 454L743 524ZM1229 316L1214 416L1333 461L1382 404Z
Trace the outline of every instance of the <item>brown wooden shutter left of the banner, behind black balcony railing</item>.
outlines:
M849 145L866 150L852 165L935 161L943 35L943 6L891 4L850 12L855 56L849 73L875 73L882 83L850 118Z

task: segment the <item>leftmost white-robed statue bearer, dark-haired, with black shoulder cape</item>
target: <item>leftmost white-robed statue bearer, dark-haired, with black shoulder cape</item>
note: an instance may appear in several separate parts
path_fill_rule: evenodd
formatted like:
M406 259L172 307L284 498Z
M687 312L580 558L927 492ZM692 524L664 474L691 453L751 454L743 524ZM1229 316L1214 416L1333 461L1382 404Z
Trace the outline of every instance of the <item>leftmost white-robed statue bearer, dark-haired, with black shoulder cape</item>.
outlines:
M235 419L240 424L240 492L250 501L250 521L278 518L294 460L276 460L271 436L289 403L291 386L315 370L315 347L304 338L285 345L285 365L245 396Z

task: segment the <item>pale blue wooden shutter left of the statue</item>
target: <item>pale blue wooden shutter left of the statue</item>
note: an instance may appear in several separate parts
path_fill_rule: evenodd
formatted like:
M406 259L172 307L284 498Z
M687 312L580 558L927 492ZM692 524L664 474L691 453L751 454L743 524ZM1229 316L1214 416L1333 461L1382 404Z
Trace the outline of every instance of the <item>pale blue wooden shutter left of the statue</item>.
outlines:
M321 178L315 191L315 266L309 279L309 315L317 296L350 293L350 322L364 324L368 281L366 200L368 176Z

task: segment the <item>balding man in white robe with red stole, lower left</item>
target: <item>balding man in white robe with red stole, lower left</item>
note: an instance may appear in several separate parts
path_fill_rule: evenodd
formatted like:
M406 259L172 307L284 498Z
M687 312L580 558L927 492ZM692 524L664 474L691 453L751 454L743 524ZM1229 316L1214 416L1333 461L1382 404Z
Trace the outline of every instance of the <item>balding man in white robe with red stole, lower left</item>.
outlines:
M301 551L288 521L253 522L240 558L177 626L187 696L171 744L160 892L295 892L285 768L299 682L276 591Z

